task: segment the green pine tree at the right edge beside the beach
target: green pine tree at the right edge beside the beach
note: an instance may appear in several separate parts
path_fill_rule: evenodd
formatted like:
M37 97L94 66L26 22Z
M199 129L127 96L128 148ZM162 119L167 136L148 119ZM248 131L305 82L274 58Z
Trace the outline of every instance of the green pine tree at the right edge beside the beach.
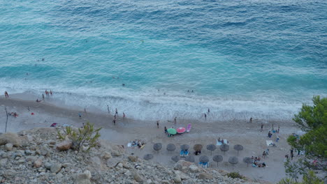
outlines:
M314 96L312 102L313 106L303 105L293 118L306 132L305 135L300 139L291 135L287 142L293 148L304 151L301 167L327 171L327 98ZM313 160L317 160L315 165L312 164Z

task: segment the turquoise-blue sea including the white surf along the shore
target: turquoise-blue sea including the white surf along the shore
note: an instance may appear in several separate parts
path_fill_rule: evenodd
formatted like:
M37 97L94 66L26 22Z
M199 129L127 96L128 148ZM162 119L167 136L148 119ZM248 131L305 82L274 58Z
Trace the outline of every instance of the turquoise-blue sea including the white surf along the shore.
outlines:
M322 0L0 1L0 90L138 119L291 118L327 96L326 25Z

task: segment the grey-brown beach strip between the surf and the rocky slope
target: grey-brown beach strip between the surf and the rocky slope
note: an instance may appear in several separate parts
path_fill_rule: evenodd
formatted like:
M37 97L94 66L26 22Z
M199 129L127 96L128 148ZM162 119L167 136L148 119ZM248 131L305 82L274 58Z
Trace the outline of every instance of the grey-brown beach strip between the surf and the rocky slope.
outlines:
M126 151L138 155L143 158L143 155L147 153L154 154L153 161L161 162L168 166L173 166L174 162L170 159L173 155L179 155L180 145L189 144L191 154L194 155L194 144L203 144L203 151L201 155L208 155L210 157L210 167L217 168L217 162L212 161L213 155L223 155L223 162L219 162L219 169L226 171L239 171L249 178L260 181L268 181L270 183L276 183L281 178L285 177L284 172L284 155L289 154L289 145L286 143L286 137L292 132L297 132L299 129L296 124L291 121L268 121L266 122L260 119L254 119L252 123L248 121L198 121L198 120L180 120L177 118L177 124L170 123L166 119L160 120L159 128L157 128L156 122L150 121L138 121L130 118L122 120L122 114L119 112L118 121L116 125L112 123L112 114L104 112L89 112L85 114L84 108L78 107L58 107L53 103L35 102L34 100L27 100L25 97L18 98L19 95L10 95L10 98L6 99L4 96L0 96L0 132L4 132L6 123L6 112L17 112L17 118L13 116L8 117L7 132L19 132L20 130L27 130L35 127L50 127L52 123L58 123L59 125L73 125L81 127L82 123L87 121L94 123L96 127L102 127L101 139L107 139L115 144L124 145ZM34 113L34 115L31 115ZM82 118L78 116L78 113L82 114ZM141 112L140 112L141 113ZM128 114L126 114L128 117ZM210 114L208 114L210 117ZM263 132L260 131L261 122L265 123ZM167 128L186 127L188 123L192 124L191 132L184 133L182 135L175 135L174 137L167 137L164 133L164 126ZM268 131L274 125L275 128L280 127L279 141L276 143L277 147L269 146L269 155L263 159L266 162L266 168L254 168L247 167L242 159L251 156L260 156L263 151L268 148L266 146L266 140ZM222 153L219 147L210 155L205 147L208 144L216 144L218 137L228 139L230 149L226 153ZM126 145L129 141L134 139L142 139L146 142L143 149L128 148ZM272 140L275 142L275 135ZM160 142L163 144L163 148L159 153L152 149L154 143ZM166 145L173 143L177 146L177 149L173 153L166 151ZM237 151L233 149L235 144L241 144L244 146L244 150L240 151L239 155ZM228 164L228 158L231 156L238 156L239 163L236 167L232 167ZM196 162L198 162L199 155L195 156Z

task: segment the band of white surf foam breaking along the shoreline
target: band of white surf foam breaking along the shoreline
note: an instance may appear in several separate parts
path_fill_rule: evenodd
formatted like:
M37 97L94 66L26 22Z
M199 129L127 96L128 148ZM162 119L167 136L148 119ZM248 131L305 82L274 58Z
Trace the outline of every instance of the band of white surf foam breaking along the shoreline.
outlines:
M54 95L50 102L54 105L65 105L80 110L86 108L91 111L110 112L118 109L119 114L124 112L130 118L140 120L173 120L197 119L204 121L204 113L208 114L207 121L227 121L231 119L247 120L259 118L289 120L301 107L300 102L286 102L274 98L245 99L242 97L210 97L195 93L180 93L161 89L143 89L132 91L124 88L67 88L64 86L42 86L29 82L4 82L0 81L0 91L10 93L34 93L41 98L45 89L52 89ZM166 94L163 94L166 93ZM237 99L237 100L236 100Z

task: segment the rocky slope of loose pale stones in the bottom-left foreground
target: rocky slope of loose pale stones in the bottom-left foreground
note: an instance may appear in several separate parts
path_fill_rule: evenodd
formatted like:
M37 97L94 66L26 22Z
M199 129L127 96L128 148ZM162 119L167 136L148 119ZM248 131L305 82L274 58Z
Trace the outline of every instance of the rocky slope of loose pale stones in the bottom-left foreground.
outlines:
M251 183L184 160L163 167L104 140L87 152L67 143L57 140L56 128L1 135L0 183Z

